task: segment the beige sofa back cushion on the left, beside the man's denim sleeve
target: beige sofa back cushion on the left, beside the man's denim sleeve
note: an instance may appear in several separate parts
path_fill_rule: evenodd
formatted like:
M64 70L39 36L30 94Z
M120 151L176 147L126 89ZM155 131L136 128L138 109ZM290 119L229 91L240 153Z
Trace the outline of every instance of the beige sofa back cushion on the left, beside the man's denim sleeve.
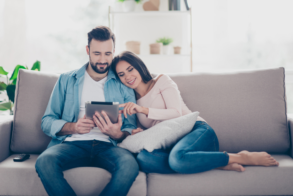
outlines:
M20 69L16 81L11 150L42 153L51 141L41 119L59 74Z

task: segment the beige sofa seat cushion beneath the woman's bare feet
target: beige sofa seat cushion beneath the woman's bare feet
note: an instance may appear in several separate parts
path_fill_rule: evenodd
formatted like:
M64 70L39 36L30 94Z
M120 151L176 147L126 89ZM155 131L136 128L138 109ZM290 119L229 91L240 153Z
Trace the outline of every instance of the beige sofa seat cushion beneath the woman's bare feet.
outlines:
M197 174L147 174L148 196L293 195L293 159L273 155L279 166L245 166L244 172L210 170Z

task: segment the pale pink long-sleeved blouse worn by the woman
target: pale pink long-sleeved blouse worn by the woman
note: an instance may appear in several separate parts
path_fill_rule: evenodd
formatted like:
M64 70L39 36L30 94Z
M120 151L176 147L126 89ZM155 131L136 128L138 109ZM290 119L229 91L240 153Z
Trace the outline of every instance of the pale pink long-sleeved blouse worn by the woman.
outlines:
M161 76L153 88L136 101L139 106L149 108L148 116L137 113L139 122L145 128L182 115L192 113L180 96L177 84L167 75Z

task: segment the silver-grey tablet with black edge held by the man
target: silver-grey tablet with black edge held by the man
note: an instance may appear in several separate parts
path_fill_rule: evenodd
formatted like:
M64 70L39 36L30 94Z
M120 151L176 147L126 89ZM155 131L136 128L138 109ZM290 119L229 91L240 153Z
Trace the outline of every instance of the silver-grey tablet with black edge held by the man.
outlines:
M103 114L101 114L101 112L104 111L113 124L118 122L119 102L86 101L85 104L87 119L93 120L93 115L98 112L105 120L105 117L103 116Z

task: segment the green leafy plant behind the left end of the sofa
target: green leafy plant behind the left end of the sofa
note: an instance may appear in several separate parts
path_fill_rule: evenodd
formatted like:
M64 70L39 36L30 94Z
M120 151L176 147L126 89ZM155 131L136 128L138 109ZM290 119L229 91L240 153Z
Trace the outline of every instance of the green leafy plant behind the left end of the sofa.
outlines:
M36 61L33 64L33 67L31 70L40 71L41 68L41 62ZM0 66L0 76L6 78L6 82L0 83L0 93L5 93L8 97L7 99L0 100L0 110L10 110L10 115L13 114L12 108L14 103L14 96L15 96L15 88L16 88L16 79L18 75L19 69L28 69L27 66L17 65L14 68L13 73L11 74L10 78L8 79L8 71L6 71L3 67Z

